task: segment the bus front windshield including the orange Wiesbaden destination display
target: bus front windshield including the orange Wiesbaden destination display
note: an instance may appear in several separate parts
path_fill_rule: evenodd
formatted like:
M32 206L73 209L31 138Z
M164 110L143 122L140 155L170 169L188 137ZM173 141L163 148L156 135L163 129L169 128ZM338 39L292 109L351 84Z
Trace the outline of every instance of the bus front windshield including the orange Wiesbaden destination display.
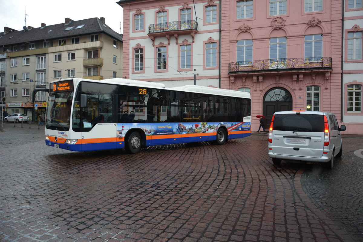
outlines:
M56 84L51 83L51 85L54 85L54 89L50 89L48 97L45 127L50 130L68 131L70 127L70 113L74 94L73 82L71 83L71 91L64 89L60 82L57 82Z

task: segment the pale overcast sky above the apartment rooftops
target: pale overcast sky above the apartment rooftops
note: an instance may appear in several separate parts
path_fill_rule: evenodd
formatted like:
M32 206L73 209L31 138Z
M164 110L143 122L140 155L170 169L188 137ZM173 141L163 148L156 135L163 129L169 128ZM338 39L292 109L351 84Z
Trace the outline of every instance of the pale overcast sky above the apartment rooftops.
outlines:
M5 26L23 30L24 25L39 28L41 23L60 24L65 18L76 21L104 17L106 24L120 33L123 12L116 2L117 0L0 0L0 32L4 31Z

